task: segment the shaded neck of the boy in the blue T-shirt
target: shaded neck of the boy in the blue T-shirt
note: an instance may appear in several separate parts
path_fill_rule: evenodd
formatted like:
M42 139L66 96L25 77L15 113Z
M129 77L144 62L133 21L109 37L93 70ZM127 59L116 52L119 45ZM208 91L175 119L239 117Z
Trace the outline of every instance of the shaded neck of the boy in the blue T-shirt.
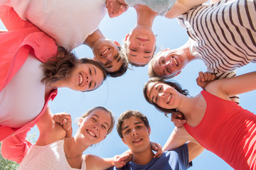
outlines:
M133 152L132 162L135 164L149 164L151 159L154 157L154 153L151 151L151 147L149 145L149 148L146 149L144 152Z

